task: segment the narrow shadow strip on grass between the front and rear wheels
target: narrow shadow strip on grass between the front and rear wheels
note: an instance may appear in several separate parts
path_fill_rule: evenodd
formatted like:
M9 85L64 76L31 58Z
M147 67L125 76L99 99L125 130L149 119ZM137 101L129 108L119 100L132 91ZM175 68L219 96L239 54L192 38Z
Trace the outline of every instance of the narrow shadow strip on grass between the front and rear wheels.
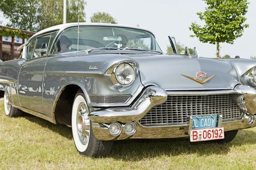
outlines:
M73 139L71 127L67 127L66 125L61 125L61 124L55 125L54 123L51 123L45 119L41 119L41 118L38 118L38 117L30 115L30 114L26 114L26 116L24 116L24 118L30 122L40 125L41 127L48 128L51 131L56 132L56 133L60 134L61 136L66 137L67 139Z

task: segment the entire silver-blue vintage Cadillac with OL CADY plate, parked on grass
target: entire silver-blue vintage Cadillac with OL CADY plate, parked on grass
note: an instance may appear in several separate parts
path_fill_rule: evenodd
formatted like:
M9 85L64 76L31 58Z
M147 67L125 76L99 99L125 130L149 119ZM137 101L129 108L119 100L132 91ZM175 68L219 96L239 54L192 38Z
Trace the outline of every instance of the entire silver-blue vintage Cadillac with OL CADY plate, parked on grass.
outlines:
M113 141L188 137L230 142L256 126L256 60L164 55L133 26L47 28L0 63L6 116L29 113L72 127L79 153L106 156Z

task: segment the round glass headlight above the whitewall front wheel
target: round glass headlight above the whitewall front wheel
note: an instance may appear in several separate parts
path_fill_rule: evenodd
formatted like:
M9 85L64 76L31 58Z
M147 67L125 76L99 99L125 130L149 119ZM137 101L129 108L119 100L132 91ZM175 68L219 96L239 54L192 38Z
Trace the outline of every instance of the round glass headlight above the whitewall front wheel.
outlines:
M135 71L128 63L122 63L116 68L116 79L121 85L129 85L135 78Z

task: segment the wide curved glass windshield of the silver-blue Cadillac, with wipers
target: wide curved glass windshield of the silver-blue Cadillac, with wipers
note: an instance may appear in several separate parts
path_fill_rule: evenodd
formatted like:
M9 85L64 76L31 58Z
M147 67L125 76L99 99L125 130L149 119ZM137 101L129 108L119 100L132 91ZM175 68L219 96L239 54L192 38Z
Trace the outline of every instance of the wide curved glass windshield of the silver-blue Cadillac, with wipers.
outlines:
M162 52L154 35L145 30L114 26L76 26L63 31L55 42L52 53L90 49Z

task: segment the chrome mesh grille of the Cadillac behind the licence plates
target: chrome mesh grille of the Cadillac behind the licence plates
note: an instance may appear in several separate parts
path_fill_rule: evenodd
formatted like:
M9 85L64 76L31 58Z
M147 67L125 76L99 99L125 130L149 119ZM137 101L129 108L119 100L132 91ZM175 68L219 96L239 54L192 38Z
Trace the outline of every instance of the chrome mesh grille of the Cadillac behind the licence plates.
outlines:
M168 96L139 122L143 126L187 125L192 115L222 114L223 122L241 119L242 111L234 102L238 94Z

